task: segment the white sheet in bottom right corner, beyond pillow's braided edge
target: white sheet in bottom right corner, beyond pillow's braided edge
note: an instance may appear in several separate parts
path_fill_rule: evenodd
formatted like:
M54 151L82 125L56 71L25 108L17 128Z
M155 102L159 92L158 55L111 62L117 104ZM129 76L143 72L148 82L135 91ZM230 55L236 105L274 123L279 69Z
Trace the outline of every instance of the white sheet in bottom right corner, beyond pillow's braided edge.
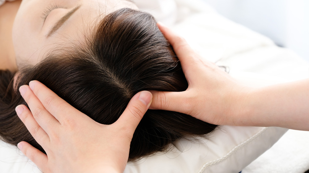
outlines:
M303 173L309 170L309 133L289 130L242 173Z

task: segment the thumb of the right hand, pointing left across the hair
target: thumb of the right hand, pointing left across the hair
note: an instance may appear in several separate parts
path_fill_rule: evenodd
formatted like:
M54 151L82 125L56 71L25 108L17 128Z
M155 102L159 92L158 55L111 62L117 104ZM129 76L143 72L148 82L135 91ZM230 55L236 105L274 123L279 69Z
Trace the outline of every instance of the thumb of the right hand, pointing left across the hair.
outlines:
M191 108L190 96L183 92L150 91L152 93L152 103L150 109L160 109L187 113Z

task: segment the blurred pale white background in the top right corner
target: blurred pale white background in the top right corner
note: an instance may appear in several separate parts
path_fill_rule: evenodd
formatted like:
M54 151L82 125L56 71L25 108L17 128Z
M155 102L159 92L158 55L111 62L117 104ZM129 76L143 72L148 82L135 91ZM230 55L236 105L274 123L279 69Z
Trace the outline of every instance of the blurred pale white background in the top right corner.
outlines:
M218 13L309 61L309 1L204 0Z

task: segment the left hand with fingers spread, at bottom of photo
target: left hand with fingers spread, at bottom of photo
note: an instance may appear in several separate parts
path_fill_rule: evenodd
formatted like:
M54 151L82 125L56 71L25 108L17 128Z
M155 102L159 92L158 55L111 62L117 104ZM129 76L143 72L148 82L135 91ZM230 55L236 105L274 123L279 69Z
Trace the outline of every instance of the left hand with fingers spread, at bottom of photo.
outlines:
M115 123L104 125L40 82L31 81L29 86L19 91L31 111L19 105L16 112L47 155L24 141L18 147L44 173L124 171L133 133L151 103L150 92L137 93Z

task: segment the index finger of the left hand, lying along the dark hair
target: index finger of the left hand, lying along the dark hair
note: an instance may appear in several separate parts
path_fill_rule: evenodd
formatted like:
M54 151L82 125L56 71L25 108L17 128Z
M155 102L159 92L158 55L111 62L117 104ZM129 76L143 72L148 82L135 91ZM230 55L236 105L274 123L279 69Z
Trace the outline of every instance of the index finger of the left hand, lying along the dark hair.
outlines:
M36 97L41 101L44 108L52 114L61 124L69 115L80 113L73 106L61 99L56 93L47 88L39 81L30 81L29 86Z

